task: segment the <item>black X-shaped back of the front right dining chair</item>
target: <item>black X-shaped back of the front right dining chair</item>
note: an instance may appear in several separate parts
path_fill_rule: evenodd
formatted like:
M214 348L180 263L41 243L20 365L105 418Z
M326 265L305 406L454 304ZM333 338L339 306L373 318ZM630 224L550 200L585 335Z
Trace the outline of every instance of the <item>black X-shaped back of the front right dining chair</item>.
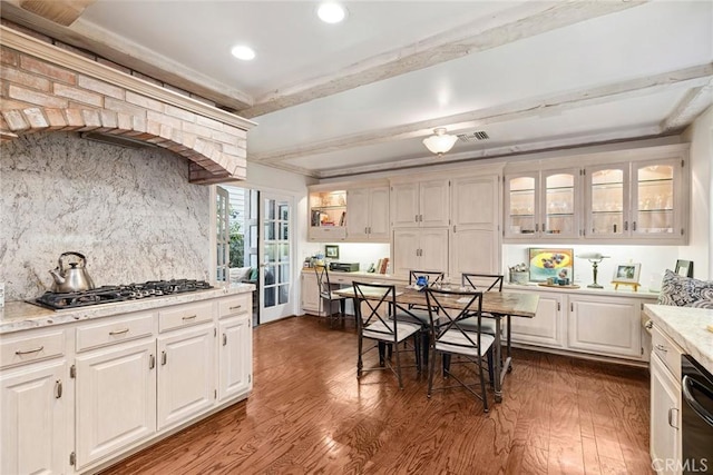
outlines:
M431 323L431 342L449 346L478 348L480 354L480 328L482 328L482 293L476 290L441 290L426 288L426 301ZM460 304L458 309L453 304ZM456 314L457 313L457 314ZM478 318L478 326L461 326L466 318Z

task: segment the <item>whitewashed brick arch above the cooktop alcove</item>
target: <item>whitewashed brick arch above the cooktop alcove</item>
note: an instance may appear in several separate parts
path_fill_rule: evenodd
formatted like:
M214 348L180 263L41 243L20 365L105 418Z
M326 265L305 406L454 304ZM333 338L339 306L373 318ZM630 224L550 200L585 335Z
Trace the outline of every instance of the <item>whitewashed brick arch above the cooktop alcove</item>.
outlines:
M2 141L35 132L99 131L150 142L187 158L192 182L246 178L247 132L231 123L126 90L6 44L0 46L0 67ZM176 88L166 89L176 91Z

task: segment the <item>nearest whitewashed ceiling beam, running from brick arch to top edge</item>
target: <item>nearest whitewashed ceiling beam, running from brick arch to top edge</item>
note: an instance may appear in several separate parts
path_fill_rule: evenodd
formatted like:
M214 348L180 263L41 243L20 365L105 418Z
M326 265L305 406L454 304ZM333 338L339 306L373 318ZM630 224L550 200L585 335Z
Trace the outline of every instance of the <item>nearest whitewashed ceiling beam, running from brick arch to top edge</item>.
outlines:
M470 22L408 47L368 58L334 75L281 88L256 98L254 106L242 109L238 113L246 118L263 116L593 18L616 13L647 1L577 0L518 3L516 8L486 20Z

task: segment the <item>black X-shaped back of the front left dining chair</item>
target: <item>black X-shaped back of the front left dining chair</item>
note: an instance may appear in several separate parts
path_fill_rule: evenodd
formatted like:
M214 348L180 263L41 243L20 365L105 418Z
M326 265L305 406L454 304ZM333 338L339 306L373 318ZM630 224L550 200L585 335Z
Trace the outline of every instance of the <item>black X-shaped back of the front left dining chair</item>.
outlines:
M379 333L384 337L393 337L398 342L395 325L397 288L389 284L365 284L352 281L354 287L354 314L356 315L356 329L359 334L372 324L380 329L370 333ZM390 319L392 317L393 319Z

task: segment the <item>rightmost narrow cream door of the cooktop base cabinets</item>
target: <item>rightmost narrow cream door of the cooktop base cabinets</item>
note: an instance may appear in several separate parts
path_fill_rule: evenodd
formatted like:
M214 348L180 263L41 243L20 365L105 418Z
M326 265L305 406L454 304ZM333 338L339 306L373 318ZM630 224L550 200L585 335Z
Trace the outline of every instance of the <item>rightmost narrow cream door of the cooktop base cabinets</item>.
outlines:
M252 388L252 316L221 321L218 336L218 398L221 402Z

